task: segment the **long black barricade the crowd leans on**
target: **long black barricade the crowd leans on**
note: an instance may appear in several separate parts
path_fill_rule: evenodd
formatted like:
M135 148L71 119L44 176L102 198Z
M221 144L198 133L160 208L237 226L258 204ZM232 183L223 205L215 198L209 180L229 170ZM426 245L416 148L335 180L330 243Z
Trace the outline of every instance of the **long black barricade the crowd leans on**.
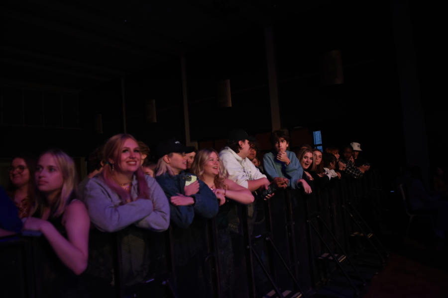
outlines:
M197 217L186 229L93 228L89 265L77 278L62 270L43 236L0 238L0 278L10 285L0 296L57 297L67 287L72 297L297 298L313 295L337 272L358 294L366 284L352 262L358 238L383 262L388 256L369 226L376 216L370 206L382 200L379 183L372 172L332 179L312 197L287 189L247 206L227 201L216 217Z

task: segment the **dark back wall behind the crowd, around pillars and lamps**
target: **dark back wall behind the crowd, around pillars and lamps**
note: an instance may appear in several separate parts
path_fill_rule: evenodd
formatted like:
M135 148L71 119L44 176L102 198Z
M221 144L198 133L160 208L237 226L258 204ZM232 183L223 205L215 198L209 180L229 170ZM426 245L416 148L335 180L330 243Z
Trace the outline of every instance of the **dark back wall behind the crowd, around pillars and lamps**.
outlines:
M448 161L443 151L448 145L444 137L447 122L445 109L440 108L446 99L447 43L442 37L447 36L448 26L440 7L414 0L409 3L434 165ZM365 157L384 172L406 162L401 153L405 147L389 1L331 1L275 22L274 39L282 128L290 132L304 128L308 137L303 137L303 131L298 137L304 142L309 142L313 131L320 130L324 148L358 142ZM324 87L319 56L331 50L341 51L344 83ZM260 136L266 144L272 122L264 29L252 28L191 50L185 59L191 141L220 149L226 133L239 127ZM219 79L230 79L230 108L216 107L215 84ZM2 146L1 157L10 157L17 149L39 153L55 146L73 156L86 156L123 131L119 78L79 93L79 125L70 128L5 121L13 119L15 111L20 114L21 108L5 104L13 101L14 95L2 90L0 133L2 143L9 140L12 145ZM179 58L125 75L124 97L128 133L149 146L171 136L186 142ZM156 123L145 122L148 99L155 99ZM37 108L27 105L27 109ZM103 134L94 132L96 114L102 115ZM298 146L300 140L294 142Z

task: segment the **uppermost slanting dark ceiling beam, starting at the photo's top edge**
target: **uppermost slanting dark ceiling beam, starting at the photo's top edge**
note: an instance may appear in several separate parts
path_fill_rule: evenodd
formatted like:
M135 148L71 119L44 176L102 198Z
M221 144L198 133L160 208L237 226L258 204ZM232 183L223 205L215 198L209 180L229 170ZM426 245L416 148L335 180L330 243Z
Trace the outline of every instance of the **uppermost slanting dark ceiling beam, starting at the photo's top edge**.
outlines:
M104 27L116 31L124 32L150 45L161 47L177 57L181 57L183 55L184 50L187 51L191 50L189 49L190 47L185 43L179 45L179 41L177 39L168 38L166 36L161 35L160 33L148 30L146 28L142 29L141 26L133 26L132 22L124 23L112 20L111 18L105 17L101 14L91 11L92 8L90 7L80 7L80 5L76 5L74 3L68 4L54 0L29 0L29 1L51 9L56 9L58 11L70 14L72 16L81 19L88 20L93 23L100 24Z

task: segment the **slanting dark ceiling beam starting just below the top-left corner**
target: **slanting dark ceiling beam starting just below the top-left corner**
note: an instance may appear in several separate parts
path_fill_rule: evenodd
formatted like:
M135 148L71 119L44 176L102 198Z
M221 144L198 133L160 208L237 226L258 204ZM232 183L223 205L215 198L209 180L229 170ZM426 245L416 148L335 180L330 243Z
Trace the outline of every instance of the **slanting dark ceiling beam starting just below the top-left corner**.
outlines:
M107 37L100 36L98 34L84 32L82 30L79 30L79 29L76 29L76 28L61 24L61 23L57 23L57 22L54 22L54 21L51 21L48 19L40 18L37 16L33 16L30 14L12 10L9 8L2 7L0 9L0 15L3 17L6 17L6 18L15 19L15 20L18 20L21 22L40 26L40 27L47 28L47 29L50 29L53 31L58 31L58 32L61 32L64 34L76 36L76 37L90 40L90 41L93 41L96 43L101 43L101 44L113 47L115 49L119 49L119 50L123 50L123 51L129 52L129 53L140 55L142 57L147 57L147 58L155 59L158 61L164 61L164 60L171 58L171 57L163 55L163 54L148 51L147 49L142 49L141 47L136 47L136 46L130 45L128 43L123 43L123 42L119 42L116 40L112 40Z

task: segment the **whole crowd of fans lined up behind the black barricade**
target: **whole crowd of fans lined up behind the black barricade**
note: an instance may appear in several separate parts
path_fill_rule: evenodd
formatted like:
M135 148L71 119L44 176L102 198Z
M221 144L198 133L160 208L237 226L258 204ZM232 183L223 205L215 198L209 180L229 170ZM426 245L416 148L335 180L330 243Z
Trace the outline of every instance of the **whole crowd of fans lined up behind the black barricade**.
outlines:
M286 132L273 132L272 150L261 159L255 138L242 130L232 130L220 152L197 151L173 138L157 145L152 163L144 143L130 135L116 135L92 152L88 176L79 185L73 159L59 149L37 160L17 155L9 168L9 188L1 194L0 236L39 231L60 261L81 274L88 264L91 224L104 232L129 225L152 231L164 231L170 224L185 229L195 217L217 215L227 200L247 205L254 202L254 194L267 200L276 189L288 187L313 199L316 187L344 175L359 178L370 168L359 155L358 143L342 148L339 158L339 150L333 147L322 152L303 145L291 152L289 141ZM446 193L443 177L440 174L435 182ZM419 187L412 195L420 195ZM447 215L446 203L427 196L415 207L435 208ZM447 218L438 222L440 237Z

